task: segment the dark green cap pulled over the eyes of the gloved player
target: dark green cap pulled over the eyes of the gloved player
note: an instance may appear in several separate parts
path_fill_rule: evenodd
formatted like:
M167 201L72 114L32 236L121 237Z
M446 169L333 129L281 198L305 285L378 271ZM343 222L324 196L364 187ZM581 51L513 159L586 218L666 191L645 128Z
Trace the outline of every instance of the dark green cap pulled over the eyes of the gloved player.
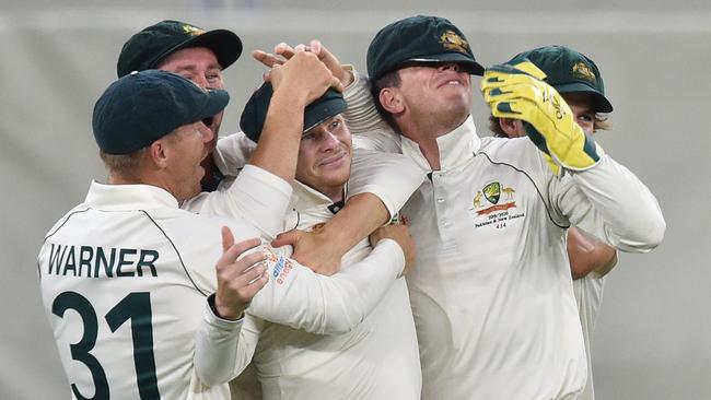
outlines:
M456 62L475 75L483 74L466 37L448 20L417 15L382 28L368 47L368 74L376 80L406 62Z

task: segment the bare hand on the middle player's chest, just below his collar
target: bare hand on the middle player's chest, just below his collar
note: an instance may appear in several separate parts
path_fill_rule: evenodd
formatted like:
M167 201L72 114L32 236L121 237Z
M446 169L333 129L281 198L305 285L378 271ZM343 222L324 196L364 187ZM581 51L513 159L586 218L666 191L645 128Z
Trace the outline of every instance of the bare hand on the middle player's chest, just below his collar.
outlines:
M291 258L318 274L330 277L340 271L343 255L336 251L335 246L329 246L323 225L314 226L310 232L291 230L277 235L271 246L292 246Z

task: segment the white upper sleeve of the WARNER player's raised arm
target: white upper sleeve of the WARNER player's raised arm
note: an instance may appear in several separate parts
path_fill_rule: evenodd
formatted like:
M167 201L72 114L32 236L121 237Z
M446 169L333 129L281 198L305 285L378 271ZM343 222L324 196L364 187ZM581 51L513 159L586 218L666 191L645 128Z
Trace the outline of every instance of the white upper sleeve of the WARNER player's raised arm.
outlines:
M267 240L282 231L292 187L280 177L254 165L246 165L225 190L202 192L180 208L206 215L244 220L259 230Z

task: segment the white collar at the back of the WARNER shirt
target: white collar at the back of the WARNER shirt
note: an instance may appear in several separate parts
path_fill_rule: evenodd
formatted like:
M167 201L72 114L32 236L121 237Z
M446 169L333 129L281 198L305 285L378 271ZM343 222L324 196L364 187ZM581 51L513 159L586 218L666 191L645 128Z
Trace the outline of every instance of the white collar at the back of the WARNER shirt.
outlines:
M165 189L152 185L106 185L92 180L84 202L100 210L144 210L178 208Z

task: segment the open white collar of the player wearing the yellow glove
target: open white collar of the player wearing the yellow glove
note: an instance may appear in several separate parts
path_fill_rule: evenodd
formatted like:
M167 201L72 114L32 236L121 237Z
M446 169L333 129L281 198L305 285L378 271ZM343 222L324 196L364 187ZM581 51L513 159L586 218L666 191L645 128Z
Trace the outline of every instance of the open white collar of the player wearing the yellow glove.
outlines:
M431 170L417 142L403 137L403 154L408 155L423 170ZM474 157L479 150L480 139L471 115L450 133L436 138L440 148L440 169L447 170Z

